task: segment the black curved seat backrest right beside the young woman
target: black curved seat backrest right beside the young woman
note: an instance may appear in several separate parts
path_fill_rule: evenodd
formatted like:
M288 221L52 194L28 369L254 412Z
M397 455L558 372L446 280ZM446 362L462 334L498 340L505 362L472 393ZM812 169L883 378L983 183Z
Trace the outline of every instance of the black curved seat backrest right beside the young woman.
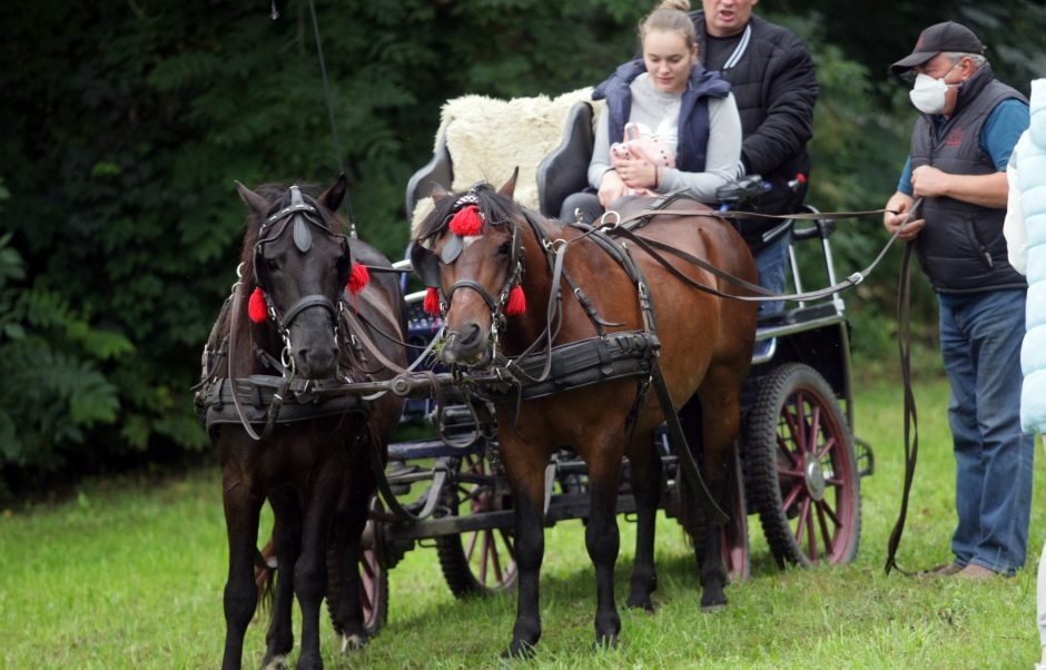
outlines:
M537 166L537 200L542 214L559 217L566 196L589 185L594 139L592 105L578 102L566 116L563 141Z

